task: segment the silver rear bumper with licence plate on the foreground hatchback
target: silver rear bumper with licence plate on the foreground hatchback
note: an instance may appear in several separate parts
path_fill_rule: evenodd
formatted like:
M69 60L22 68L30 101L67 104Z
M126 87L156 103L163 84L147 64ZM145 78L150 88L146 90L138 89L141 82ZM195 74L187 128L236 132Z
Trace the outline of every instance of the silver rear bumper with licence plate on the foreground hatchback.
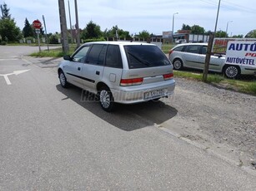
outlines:
M161 81L154 83L153 85L140 85L140 86L120 86L119 90L111 89L113 94L113 99L117 103L122 104L135 104L139 102L144 102L147 100L153 100L161 97L170 96L173 94L175 88L175 81ZM145 93L148 92L161 92L150 97L146 97Z

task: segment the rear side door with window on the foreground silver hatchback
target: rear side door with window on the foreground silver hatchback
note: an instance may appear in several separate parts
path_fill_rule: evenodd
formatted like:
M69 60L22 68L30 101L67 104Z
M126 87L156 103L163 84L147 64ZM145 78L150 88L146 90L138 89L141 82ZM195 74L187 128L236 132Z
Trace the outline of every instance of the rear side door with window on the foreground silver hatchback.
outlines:
M83 88L85 90L97 93L96 85L103 77L103 65L107 45L92 45L86 61L83 63Z

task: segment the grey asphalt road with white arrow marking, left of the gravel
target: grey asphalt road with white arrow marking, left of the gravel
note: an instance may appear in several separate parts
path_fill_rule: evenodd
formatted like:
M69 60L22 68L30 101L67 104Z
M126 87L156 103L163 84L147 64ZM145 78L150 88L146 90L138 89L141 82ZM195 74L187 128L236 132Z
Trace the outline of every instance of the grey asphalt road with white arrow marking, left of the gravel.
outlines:
M33 48L0 47L0 190L256 190L255 175L158 128L171 104L106 113L24 58Z

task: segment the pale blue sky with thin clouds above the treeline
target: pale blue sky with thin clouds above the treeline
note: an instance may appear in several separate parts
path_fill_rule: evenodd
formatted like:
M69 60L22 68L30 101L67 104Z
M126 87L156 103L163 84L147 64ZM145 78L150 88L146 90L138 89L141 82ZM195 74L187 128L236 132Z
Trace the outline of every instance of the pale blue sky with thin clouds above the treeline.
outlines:
M181 29L183 23L199 25L206 31L214 31L219 0L77 0L80 28L93 21L104 31L118 25L118 28L138 34L143 30L161 35ZM22 30L26 17L31 24L38 19L46 22L47 32L60 32L58 0L0 0L10 8L16 24ZM68 0L66 7L67 26L70 28ZM74 0L69 0L71 22L75 25ZM178 12L178 14L174 14ZM173 27L174 14L174 27ZM221 0L217 31L228 35L245 36L256 29L255 0Z

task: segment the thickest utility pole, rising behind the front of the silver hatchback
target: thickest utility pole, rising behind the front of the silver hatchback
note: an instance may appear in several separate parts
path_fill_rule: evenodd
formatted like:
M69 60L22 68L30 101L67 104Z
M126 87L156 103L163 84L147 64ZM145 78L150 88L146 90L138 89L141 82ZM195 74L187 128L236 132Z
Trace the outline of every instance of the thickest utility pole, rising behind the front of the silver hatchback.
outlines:
M61 28L61 34L62 34L63 52L67 54L69 47L68 47L68 30L67 30L64 0L58 0L58 8L59 8L60 28Z

